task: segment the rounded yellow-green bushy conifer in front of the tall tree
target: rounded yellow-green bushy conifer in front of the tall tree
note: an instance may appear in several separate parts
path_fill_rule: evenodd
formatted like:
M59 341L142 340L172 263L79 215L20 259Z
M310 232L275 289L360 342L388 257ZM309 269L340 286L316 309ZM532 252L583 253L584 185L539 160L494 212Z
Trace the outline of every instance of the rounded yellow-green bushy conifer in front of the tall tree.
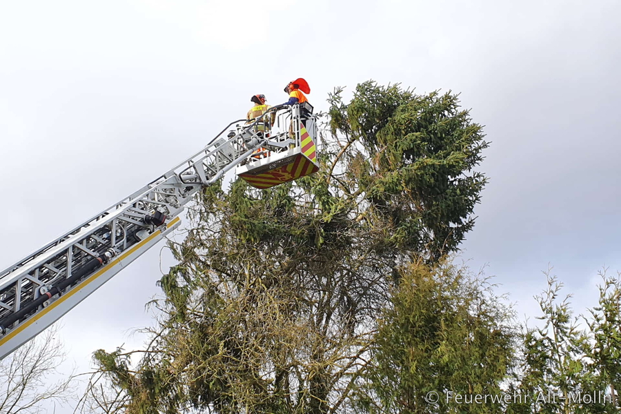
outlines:
M497 413L502 404L456 404L501 395L513 361L512 313L486 279L447 263L413 264L380 321L359 404L371 413ZM373 391L369 393L368 391ZM428 393L441 395L435 404Z

